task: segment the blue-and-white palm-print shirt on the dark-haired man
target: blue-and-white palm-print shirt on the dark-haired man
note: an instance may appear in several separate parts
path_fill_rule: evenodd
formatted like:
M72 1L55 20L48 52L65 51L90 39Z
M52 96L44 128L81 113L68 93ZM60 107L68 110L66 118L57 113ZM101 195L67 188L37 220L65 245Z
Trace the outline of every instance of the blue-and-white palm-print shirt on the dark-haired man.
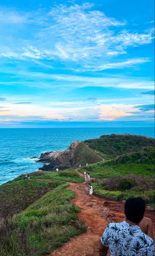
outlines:
M126 221L110 223L101 237L101 243L110 249L111 256L155 256L153 240L139 226Z

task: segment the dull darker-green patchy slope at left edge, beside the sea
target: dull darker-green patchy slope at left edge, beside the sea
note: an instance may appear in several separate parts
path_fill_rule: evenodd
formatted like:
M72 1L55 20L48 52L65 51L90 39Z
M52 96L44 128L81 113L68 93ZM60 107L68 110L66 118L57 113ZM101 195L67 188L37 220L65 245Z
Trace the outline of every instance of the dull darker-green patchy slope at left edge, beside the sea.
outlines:
M42 197L47 191L62 184L56 180L21 180L0 186L0 213L19 213Z

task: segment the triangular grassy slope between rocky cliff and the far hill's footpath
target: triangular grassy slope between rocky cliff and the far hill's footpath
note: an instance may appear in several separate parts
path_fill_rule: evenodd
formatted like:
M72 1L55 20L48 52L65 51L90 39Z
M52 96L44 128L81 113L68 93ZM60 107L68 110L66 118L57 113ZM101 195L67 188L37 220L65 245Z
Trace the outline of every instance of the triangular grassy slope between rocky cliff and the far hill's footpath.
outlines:
M79 164L86 165L86 163L97 163L102 159L92 152L86 145L79 143L74 152L74 166L78 167Z

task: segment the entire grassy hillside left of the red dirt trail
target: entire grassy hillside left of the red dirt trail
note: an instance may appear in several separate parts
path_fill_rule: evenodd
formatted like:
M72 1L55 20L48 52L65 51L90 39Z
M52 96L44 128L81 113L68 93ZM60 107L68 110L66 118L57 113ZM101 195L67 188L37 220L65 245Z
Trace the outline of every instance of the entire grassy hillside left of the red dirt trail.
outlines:
M1 256L48 254L70 237L86 231L85 224L77 218L80 208L69 203L75 193L62 181L80 182L83 178L72 169L30 175L30 181L21 176L0 186ZM15 215L16 212L21 213Z

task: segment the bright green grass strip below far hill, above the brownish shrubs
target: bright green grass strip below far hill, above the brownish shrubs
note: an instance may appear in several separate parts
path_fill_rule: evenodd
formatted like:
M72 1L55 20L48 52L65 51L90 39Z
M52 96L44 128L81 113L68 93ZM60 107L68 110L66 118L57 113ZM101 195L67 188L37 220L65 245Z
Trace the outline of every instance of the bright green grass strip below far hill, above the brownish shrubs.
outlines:
M154 175L153 168L153 164L113 164L111 160L104 163L91 164L88 168L84 167L79 171L83 173L86 170L89 172L90 177L94 178L111 178L128 174L152 176Z

